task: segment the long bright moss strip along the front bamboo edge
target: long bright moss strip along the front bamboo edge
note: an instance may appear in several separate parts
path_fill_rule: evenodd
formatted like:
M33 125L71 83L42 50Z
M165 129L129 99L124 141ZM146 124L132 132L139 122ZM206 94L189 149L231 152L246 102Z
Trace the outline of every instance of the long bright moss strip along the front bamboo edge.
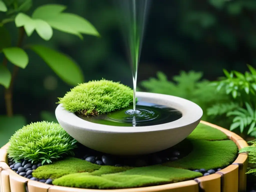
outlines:
M200 176L202 174L198 172L157 165L104 174L101 177L86 173L71 174L55 179L53 184L78 188L115 189L174 183Z

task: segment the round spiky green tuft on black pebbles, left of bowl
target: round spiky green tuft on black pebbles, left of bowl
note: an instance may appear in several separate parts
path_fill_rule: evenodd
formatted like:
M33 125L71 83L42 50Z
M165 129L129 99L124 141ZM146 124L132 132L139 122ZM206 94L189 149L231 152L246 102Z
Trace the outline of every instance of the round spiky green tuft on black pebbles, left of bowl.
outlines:
M73 156L74 140L58 123L31 123L10 138L8 157L15 162L27 159L32 163L51 163L52 159Z

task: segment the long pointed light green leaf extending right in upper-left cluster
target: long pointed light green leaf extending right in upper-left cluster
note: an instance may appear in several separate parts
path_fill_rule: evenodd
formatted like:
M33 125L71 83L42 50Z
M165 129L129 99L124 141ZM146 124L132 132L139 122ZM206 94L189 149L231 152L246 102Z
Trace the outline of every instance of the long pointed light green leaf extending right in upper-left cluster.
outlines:
M52 28L66 33L75 35L82 33L99 36L98 31L88 20L75 14L61 13L46 21Z

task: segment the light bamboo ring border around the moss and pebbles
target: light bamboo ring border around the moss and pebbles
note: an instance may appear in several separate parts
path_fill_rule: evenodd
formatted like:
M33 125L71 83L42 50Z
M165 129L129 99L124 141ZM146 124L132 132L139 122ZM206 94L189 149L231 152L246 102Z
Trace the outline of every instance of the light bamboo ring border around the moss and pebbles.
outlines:
M248 146L247 142L239 135L219 127L217 125L201 121L225 133L230 140L236 143L238 149ZM184 182L158 185L152 187L128 188L128 189L80 189L48 185L33 181L16 174L8 166L7 148L9 143L0 149L0 191L1 192L240 192L246 191L246 172L248 166L248 154L238 154L237 159L228 167L211 174Z

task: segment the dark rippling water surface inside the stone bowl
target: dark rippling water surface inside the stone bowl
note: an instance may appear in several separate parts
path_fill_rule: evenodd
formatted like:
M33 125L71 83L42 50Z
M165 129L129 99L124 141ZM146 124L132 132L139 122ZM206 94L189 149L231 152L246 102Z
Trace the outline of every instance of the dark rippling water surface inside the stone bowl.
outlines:
M133 105L116 110L108 114L98 116L83 116L77 114L83 120L92 123L112 126L150 126L159 125L176 121L182 117L182 113L177 109L170 108L165 105L138 101L136 110L133 110Z

